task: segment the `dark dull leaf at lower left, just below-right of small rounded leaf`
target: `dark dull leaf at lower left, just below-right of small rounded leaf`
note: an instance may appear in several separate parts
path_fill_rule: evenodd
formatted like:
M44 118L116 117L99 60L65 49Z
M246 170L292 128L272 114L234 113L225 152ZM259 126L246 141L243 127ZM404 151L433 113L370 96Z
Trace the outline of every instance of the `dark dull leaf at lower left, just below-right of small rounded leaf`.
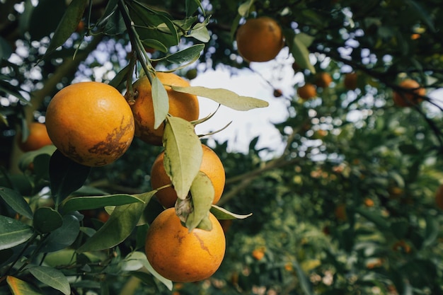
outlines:
M68 214L63 216L63 224L52 231L45 240L42 252L51 253L69 247L76 241L80 232L80 221L76 216Z

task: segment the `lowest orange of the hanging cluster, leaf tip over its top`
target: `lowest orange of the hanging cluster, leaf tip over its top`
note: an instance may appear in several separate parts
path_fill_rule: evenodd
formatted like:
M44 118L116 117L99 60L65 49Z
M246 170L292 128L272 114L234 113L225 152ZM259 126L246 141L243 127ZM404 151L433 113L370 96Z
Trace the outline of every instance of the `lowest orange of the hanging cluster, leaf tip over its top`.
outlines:
M211 277L222 264L226 239L217 218L209 213L211 231L181 224L174 208L152 221L146 234L145 253L151 266L173 282L198 282Z

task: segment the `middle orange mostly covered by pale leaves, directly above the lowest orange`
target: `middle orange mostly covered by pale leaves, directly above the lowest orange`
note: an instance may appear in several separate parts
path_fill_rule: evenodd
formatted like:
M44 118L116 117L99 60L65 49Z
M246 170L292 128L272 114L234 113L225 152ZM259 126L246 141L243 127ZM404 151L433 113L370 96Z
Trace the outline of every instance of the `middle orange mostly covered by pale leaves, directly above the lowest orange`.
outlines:
M202 144L202 149L203 156L200 171L205 173L209 180L211 180L212 186L214 187L214 200L212 201L212 204L216 204L219 202L220 197L222 197L226 180L223 163L220 161L219 156L217 156L211 148L205 146L205 144ZM171 183L171 178L166 174L163 159L164 151L157 156L152 164L151 186L154 189ZM163 207L171 208L176 204L177 193L173 187L166 187L156 192L156 197L159 199L159 202Z

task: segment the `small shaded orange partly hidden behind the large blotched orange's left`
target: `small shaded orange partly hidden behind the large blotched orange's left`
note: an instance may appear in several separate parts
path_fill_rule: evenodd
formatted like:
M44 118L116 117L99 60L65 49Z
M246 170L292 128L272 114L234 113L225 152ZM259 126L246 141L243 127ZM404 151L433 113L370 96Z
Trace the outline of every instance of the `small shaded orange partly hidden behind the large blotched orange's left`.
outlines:
M17 144L22 151L36 151L41 149L43 146L49 146L52 141L47 134L45 124L39 122L30 123L29 135L25 141L22 141L22 134L19 132L17 134Z

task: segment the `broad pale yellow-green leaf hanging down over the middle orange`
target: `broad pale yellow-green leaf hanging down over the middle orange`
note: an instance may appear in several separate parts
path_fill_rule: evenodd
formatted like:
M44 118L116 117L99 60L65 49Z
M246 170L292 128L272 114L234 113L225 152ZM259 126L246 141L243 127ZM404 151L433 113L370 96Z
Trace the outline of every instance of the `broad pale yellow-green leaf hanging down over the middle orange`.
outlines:
M202 143L192 124L180 117L167 117L163 134L163 164L177 196L185 199L202 163Z

